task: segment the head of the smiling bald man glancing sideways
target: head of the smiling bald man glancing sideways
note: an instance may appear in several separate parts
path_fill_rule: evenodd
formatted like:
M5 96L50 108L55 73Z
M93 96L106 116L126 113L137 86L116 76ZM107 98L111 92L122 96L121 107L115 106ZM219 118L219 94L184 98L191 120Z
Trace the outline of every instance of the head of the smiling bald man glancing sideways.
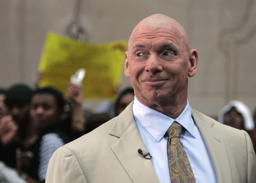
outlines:
M188 77L196 74L197 59L184 28L168 16L155 14L133 29L124 72L141 103L186 104Z

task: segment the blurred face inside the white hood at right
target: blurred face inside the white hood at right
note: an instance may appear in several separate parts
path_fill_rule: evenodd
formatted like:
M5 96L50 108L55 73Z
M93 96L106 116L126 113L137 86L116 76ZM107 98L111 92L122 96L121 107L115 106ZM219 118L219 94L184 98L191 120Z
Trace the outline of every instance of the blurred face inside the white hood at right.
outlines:
M232 107L228 112L224 114L223 123L228 126L232 126L237 129L244 129L244 119L241 113L236 111L235 107Z

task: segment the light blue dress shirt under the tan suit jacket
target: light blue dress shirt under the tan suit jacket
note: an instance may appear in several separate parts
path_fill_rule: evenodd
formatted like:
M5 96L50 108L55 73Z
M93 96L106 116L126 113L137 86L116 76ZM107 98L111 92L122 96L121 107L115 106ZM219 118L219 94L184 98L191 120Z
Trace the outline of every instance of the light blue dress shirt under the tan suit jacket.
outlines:
M171 183L167 157L168 137L164 138L164 134L174 119L143 105L136 97L134 97L132 111L140 136L147 151L153 156L151 161L159 181ZM217 183L211 157L203 137L194 123L188 101L185 109L175 121L186 129L181 133L180 142L188 155L196 182ZM146 149L142 150L144 154L147 153Z

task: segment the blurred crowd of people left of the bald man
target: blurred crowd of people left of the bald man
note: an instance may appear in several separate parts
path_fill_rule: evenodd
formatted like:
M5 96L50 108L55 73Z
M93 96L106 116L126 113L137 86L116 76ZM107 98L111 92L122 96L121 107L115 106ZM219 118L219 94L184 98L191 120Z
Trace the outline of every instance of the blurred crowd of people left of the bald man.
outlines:
M0 89L0 182L44 182L53 152L114 118L133 101L124 88L102 112L84 110L81 86Z

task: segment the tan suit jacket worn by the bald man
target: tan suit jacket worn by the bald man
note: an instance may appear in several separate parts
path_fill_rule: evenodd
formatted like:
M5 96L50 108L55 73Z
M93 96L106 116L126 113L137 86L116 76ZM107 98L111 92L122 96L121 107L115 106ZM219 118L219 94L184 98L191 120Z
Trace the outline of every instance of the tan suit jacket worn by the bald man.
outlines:
M256 157L244 131L192 109L219 183L255 183ZM157 183L151 160L132 114L132 103L116 118L72 141L53 155L46 183ZM154 155L152 155L154 156Z

